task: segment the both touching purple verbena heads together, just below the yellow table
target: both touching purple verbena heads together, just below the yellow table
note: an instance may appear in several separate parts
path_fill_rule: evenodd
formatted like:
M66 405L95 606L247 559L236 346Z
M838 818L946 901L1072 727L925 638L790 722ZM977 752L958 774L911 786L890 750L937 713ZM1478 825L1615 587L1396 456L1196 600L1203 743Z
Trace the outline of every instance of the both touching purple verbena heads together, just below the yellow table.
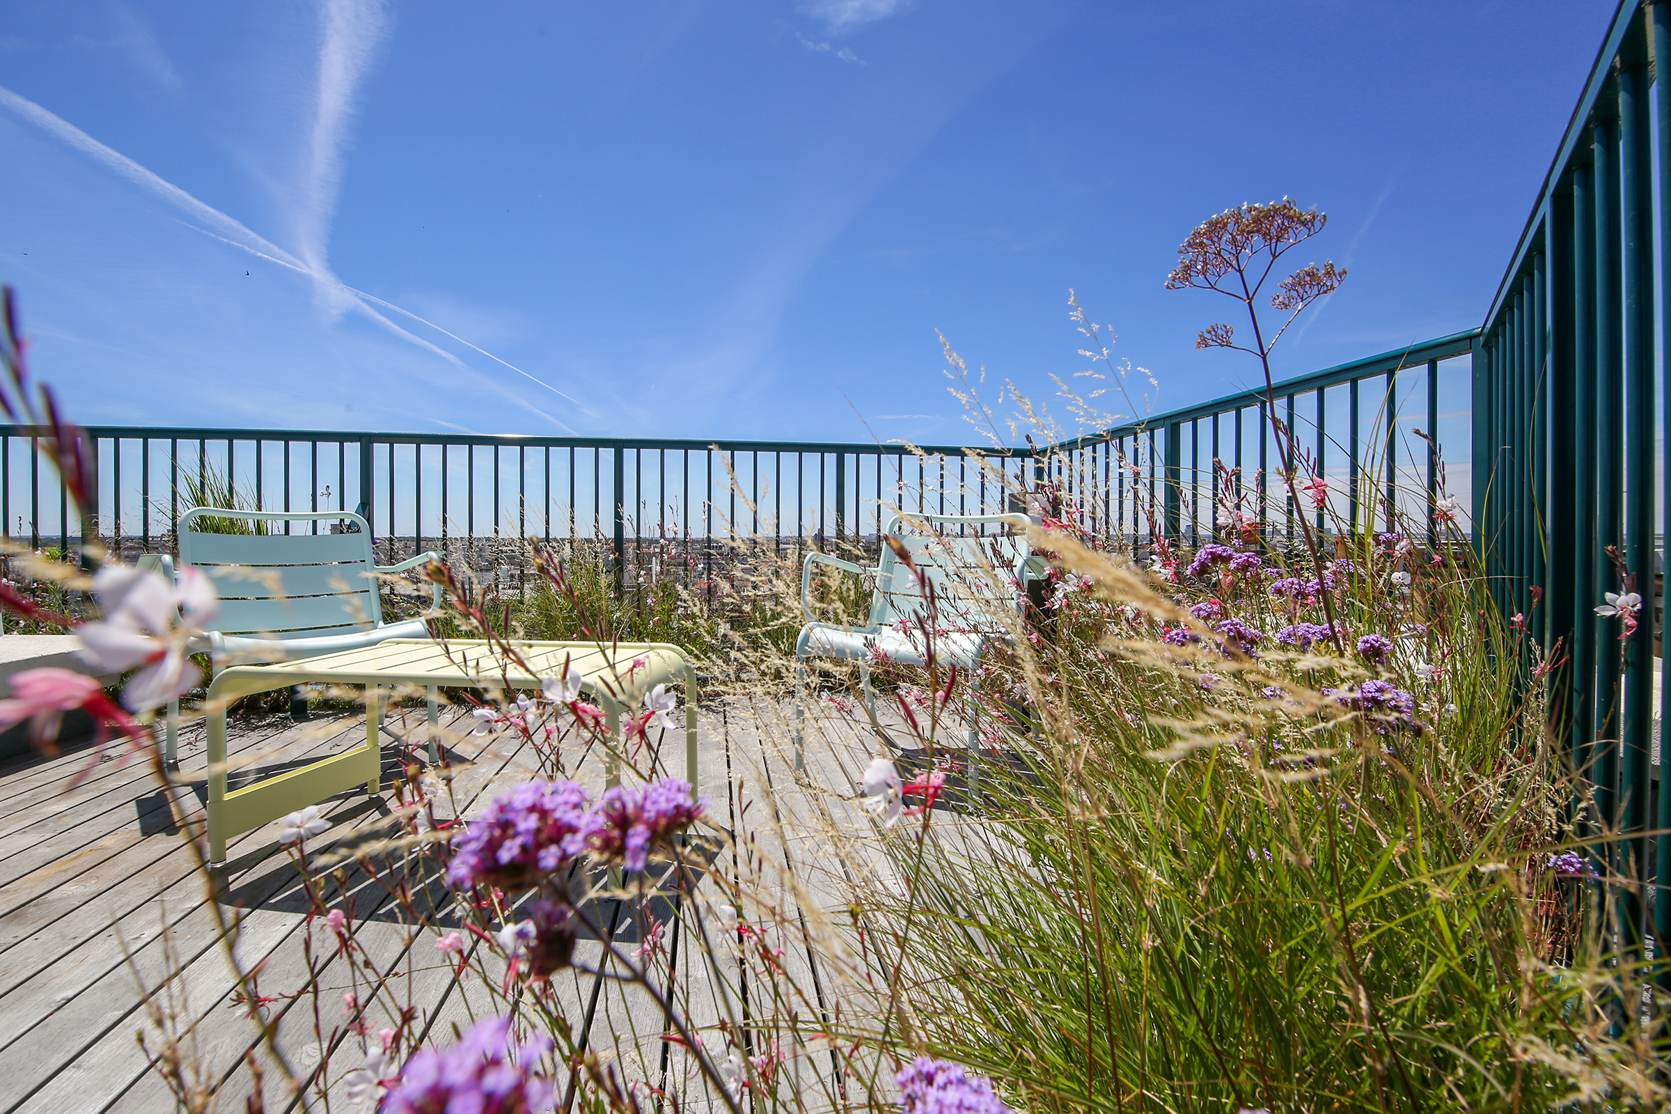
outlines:
M597 803L575 782L528 782L498 797L453 838L446 880L460 889L521 890L587 850L643 870L648 848L702 817L707 797L663 778L643 788L617 785Z

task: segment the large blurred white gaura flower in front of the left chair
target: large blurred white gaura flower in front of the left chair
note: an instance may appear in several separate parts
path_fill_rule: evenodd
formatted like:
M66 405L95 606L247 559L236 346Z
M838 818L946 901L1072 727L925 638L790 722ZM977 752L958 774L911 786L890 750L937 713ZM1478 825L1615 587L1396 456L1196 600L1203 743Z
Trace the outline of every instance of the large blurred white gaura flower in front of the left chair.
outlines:
M100 673L144 666L122 688L130 711L160 708L197 686L202 673L185 653L221 613L221 598L196 568L179 571L174 586L132 565L107 565L94 573L94 600L104 618L82 623L82 661Z

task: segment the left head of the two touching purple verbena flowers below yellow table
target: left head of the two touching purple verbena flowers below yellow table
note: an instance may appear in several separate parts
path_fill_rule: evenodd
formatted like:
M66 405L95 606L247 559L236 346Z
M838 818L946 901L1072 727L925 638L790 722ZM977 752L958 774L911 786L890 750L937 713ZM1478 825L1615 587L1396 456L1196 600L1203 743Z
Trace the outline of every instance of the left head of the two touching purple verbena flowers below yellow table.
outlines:
M526 782L453 837L446 880L461 889L526 889L585 852L600 827L575 782Z

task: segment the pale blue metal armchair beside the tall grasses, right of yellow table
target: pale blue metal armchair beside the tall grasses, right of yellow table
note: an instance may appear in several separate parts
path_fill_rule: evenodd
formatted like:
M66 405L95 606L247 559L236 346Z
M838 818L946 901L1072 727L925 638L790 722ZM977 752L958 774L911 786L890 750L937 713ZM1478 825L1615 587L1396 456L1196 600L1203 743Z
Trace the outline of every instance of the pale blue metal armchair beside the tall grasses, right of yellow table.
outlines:
M906 531L902 524L919 526ZM1004 533L979 533L983 526L1004 524ZM1019 621L1029 580L1043 575L1043 560L1028 546L1026 514L894 514L884 538L897 538L911 561L934 585L934 656L956 665L969 676L969 760L978 747L974 683L986 645L1008 640ZM927 533L921 526L931 526ZM959 533L949 533L956 529ZM827 565L857 573L874 583L871 613L862 626L825 623L812 611L812 570ZM809 658L842 658L859 663L866 706L876 717L871 663L924 665L929 606L911 568L882 541L876 568L864 568L827 553L809 553L800 566L800 608L807 625L795 640L795 768L805 768L805 663ZM1014 618L1013 618L1014 616Z

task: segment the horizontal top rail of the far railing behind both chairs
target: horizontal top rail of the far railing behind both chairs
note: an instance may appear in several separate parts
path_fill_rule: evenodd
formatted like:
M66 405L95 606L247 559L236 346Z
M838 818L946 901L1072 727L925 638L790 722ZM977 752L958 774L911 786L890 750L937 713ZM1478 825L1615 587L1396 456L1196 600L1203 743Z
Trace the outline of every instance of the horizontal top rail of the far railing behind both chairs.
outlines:
M667 449L705 453L859 453L874 456L909 456L914 451L929 456L981 456L1028 458L1033 449L996 449L954 444L879 444L852 441L734 441L702 438L546 438L536 434L456 434L456 433L369 433L364 429L234 429L197 426L84 426L94 438L137 441L331 441L371 444L471 444L500 448L553 448L553 449ZM0 424L0 434L12 438L45 436L43 426Z

